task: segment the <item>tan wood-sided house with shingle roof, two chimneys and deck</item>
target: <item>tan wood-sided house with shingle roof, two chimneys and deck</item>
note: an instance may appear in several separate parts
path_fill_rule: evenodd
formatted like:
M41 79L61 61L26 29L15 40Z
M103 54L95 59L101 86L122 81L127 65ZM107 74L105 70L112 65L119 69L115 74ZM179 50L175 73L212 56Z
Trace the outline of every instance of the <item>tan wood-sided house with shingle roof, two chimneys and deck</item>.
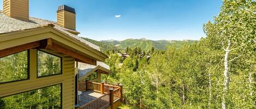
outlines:
M104 66L107 56L99 47L78 36L75 17L74 8L61 5L57 9L57 22L34 18L29 16L29 0L3 0L0 11L0 106L10 103L13 105L8 106L14 107L8 108L17 108L20 106L19 100L15 100L20 99L18 97L25 98L19 102L27 101L26 108L45 105L63 109L117 108L121 105L121 85L99 79L79 81L79 66L94 66L84 74L97 72L99 77L110 70ZM88 92L100 95L93 99L82 96ZM31 98L29 95L33 94L37 95ZM5 102L8 100L5 98L15 102ZM88 102L81 104L83 99Z

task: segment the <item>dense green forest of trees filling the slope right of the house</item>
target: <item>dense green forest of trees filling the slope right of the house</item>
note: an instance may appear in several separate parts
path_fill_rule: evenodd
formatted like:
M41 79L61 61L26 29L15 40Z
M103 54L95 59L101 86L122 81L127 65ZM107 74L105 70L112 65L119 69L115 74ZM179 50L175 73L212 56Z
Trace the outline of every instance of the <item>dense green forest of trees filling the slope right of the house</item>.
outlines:
M256 2L224 0L203 26L206 37L181 48L139 48L123 58L107 52L112 73L130 108L256 108Z

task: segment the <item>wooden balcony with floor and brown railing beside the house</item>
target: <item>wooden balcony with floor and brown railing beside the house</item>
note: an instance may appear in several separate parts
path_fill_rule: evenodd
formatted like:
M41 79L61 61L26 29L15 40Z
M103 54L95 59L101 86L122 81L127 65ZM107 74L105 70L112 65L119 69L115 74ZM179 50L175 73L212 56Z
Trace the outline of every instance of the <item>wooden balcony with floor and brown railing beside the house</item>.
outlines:
M122 85L108 82L80 82L80 109L117 108L122 104Z

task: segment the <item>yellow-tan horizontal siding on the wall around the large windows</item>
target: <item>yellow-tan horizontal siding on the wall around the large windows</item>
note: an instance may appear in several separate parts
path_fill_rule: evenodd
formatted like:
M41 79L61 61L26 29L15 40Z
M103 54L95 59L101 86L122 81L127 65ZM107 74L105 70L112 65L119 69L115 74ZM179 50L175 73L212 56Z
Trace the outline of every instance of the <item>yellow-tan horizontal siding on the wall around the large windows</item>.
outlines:
M49 50L46 50L49 52ZM0 85L0 98L33 89L62 83L62 108L74 108L74 58L50 52L62 57L62 74L37 78L37 50L30 50L29 80Z

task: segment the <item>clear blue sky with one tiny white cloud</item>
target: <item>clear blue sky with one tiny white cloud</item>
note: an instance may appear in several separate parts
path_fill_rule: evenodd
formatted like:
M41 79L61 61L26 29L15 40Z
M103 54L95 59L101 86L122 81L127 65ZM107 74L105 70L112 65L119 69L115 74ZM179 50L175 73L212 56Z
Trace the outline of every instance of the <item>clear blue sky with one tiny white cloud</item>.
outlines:
M30 0L29 15L56 21L61 4L75 8L76 29L93 40L199 40L205 36L203 24L218 15L222 1Z

